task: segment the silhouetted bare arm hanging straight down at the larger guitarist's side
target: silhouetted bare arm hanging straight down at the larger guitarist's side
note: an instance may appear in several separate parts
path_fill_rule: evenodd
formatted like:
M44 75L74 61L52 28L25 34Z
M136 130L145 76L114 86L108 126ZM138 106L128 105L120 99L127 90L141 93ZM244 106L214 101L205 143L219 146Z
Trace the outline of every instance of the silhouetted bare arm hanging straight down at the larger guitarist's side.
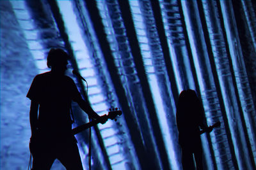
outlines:
M29 112L29 121L30 121L30 127L31 127L31 135L35 135L36 128L37 128L37 115L38 115L38 102L31 100L30 105L30 112Z

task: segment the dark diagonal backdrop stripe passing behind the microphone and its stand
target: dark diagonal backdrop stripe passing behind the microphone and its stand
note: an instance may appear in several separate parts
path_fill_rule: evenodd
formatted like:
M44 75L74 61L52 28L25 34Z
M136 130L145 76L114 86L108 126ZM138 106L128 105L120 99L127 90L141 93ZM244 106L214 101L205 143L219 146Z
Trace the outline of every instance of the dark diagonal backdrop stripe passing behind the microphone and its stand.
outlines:
M74 59L74 53L73 53L73 50L72 50L72 46L69 43L68 35L67 35L67 32L65 31L65 24L64 24L64 22L61 18L60 9L58 8L58 5L57 5L56 1L48 0L48 3L51 7L52 15L53 15L53 17L56 21L56 25L57 25L57 27L60 31L60 35L63 38L63 41L65 43L65 48L67 49L68 54L70 55L70 59L72 61L72 64L74 64L75 69L77 69L76 60ZM83 83L81 83L81 81L80 81L79 84L82 85ZM84 91L84 88L82 90L83 90L84 97L86 97L85 96L86 92ZM102 142L102 138L100 136L99 129L97 127L94 127L94 128L95 128L95 132L97 134L97 138L99 139L100 148L102 149L102 155L105 159L105 162L107 164L108 169L111 169L111 164L110 164L109 159L108 159L108 153L106 152L106 149L104 147L104 143ZM97 155L97 154L95 154L95 155Z

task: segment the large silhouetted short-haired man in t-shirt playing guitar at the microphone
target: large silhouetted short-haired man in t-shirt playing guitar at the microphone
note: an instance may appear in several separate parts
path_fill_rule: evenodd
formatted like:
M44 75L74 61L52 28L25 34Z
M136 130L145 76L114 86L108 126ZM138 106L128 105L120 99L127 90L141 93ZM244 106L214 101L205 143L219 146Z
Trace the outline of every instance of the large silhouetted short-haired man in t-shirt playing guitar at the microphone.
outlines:
M31 99L30 149L34 170L51 169L55 159L69 170L83 169L76 138L71 134L71 101L79 104L90 117L100 118L82 99L74 81L65 76L67 60L66 52L51 49L47 56L51 71L36 75L27 95ZM104 124L106 120L100 122Z

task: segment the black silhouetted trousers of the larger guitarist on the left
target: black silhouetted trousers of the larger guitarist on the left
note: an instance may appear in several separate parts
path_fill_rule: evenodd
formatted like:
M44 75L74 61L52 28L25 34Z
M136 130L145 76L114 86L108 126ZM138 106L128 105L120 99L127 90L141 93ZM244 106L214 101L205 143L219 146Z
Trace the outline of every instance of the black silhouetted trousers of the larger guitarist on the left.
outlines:
M61 143L40 143L33 155L33 170L49 170L55 159L67 170L83 170L77 143L74 140Z

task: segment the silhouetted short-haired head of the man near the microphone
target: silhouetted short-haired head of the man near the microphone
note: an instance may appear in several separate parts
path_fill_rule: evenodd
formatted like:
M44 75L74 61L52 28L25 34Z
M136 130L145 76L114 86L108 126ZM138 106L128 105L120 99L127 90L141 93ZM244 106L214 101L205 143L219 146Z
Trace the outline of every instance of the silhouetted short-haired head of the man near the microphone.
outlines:
M51 48L47 56L47 67L56 73L64 74L67 64L68 54L60 48Z

